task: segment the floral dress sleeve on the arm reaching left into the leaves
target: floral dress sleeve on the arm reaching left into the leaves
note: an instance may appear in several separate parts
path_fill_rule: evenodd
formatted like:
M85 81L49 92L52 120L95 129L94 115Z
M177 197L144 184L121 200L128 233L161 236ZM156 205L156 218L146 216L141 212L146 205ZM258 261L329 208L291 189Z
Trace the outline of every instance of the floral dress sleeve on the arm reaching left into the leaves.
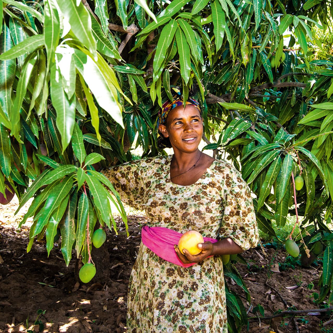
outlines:
M101 172L111 181L124 203L143 210L144 182L140 164L141 160L136 160Z

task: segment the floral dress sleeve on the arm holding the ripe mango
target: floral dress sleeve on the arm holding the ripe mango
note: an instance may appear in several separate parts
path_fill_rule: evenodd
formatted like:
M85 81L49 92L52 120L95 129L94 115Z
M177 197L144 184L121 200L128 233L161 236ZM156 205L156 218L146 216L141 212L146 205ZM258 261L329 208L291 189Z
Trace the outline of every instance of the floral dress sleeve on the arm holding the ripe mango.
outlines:
M240 176L232 177L231 183L232 187L226 194L219 236L231 238L247 250L255 247L259 240L251 192Z

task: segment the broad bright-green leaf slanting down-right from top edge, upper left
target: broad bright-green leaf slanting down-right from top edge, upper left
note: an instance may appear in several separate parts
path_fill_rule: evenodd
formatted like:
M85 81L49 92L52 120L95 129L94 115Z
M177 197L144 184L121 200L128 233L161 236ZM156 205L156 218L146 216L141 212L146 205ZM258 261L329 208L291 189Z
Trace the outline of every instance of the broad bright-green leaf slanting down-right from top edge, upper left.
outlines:
M57 3L76 38L96 56L96 41L92 34L88 9L82 2L75 3L75 0L57 0Z

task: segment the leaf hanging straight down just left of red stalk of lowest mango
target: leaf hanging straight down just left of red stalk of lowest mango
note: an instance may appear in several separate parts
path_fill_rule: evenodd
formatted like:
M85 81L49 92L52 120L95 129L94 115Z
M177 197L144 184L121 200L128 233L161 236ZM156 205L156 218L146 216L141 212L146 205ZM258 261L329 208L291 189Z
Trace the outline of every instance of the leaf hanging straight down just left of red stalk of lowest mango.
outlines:
M87 220L88 220L89 203L88 197L85 193L82 193L78 203L78 224L75 231L75 249L76 255L79 258L83 243L85 242L87 232Z

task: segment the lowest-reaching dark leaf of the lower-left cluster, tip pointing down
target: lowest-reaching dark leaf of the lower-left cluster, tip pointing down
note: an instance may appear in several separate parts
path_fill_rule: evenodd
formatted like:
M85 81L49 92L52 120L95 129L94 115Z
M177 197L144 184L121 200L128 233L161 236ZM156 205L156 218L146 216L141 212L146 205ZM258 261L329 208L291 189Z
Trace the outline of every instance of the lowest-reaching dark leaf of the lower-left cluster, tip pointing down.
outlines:
M71 195L65 214L60 222L61 231L61 252L68 267L72 258L72 248L75 242L75 211L77 203L77 191Z

